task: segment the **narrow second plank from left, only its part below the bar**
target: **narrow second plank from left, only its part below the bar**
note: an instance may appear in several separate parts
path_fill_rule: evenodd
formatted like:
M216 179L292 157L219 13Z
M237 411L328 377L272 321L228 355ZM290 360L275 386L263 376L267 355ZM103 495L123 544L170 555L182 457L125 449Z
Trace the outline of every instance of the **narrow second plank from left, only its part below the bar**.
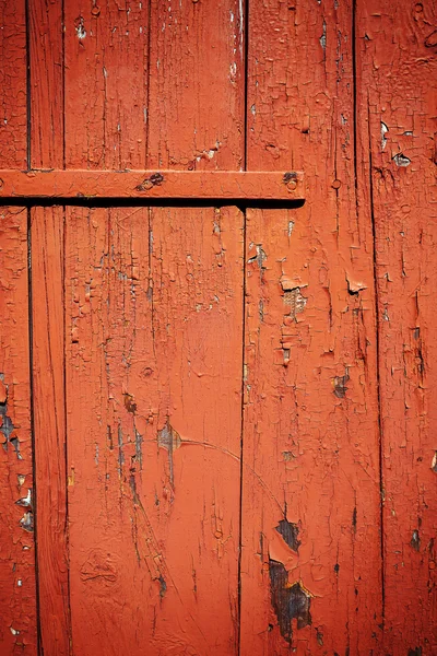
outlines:
M40 647L69 654L63 208L33 208L32 318Z

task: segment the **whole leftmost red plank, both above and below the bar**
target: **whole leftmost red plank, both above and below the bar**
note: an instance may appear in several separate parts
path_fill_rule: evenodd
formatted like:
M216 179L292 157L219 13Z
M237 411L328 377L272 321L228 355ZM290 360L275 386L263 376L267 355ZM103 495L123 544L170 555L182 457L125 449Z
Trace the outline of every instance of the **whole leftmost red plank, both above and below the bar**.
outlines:
M26 168L26 16L0 5L1 166ZM0 652L37 653L27 210L0 208Z

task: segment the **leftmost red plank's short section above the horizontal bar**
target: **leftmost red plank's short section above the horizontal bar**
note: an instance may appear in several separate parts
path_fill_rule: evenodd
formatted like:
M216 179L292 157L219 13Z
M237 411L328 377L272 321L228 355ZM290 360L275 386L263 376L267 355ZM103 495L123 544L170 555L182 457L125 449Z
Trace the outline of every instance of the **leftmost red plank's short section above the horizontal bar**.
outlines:
M24 0L0 3L0 166L27 166Z

